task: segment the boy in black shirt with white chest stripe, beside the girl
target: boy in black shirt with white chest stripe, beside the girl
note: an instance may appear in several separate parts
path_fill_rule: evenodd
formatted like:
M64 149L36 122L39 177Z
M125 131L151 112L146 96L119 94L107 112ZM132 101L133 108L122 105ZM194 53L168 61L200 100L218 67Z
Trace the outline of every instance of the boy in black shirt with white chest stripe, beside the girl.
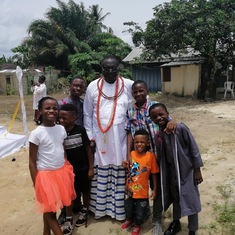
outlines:
M82 226L87 221L90 198L90 180L94 176L93 153L90 140L84 127L74 124L77 119L77 108L73 104L64 104L60 108L59 121L65 127L67 138L65 150L68 161L73 166L75 174L74 187L77 196L83 198L83 209L79 212L76 226ZM63 234L71 234L73 230L72 206L66 208L66 223Z

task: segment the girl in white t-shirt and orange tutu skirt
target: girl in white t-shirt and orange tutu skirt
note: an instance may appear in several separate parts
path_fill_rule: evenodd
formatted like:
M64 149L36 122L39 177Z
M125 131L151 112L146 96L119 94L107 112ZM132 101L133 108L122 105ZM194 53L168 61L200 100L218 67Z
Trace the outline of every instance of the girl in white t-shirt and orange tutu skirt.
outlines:
M56 212L76 198L73 168L66 159L63 126L57 125L58 103L52 97L39 101L41 124L29 136L29 170L38 212L43 213L43 235L62 235Z

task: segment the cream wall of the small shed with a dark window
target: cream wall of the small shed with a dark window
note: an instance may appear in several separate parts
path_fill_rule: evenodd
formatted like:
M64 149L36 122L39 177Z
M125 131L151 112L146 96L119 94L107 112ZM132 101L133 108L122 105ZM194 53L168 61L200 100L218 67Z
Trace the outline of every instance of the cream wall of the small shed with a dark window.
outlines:
M200 81L200 64L171 67L171 81L164 82L162 77L162 91L180 96L198 98Z

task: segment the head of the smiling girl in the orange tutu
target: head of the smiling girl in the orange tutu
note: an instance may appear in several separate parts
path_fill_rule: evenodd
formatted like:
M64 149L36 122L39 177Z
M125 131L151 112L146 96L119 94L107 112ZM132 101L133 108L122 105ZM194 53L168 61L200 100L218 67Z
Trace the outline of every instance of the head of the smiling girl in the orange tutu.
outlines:
M58 117L58 102L56 99L46 96L39 100L38 110L40 112L39 124L55 124Z

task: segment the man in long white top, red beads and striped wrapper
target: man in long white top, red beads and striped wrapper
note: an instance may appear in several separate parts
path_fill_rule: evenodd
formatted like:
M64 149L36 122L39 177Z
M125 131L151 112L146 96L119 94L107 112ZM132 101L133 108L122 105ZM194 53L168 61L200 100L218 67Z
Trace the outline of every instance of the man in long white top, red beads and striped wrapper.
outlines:
M90 210L95 218L125 219L125 169L127 155L126 111L132 102L133 81L118 75L119 61L106 56L100 78L87 87L84 99L84 127L95 147L95 176L91 182Z

